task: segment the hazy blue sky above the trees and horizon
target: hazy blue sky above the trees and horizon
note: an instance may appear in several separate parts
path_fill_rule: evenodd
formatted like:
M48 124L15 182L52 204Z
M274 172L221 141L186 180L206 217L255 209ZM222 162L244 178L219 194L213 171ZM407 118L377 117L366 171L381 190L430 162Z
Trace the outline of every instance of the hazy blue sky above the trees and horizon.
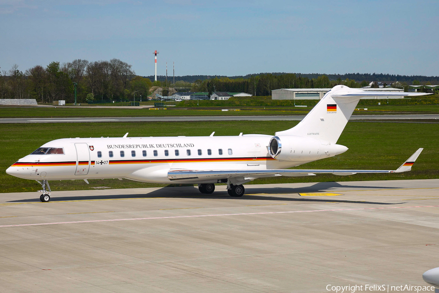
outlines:
M75 4L72 4L72 3ZM118 58L138 75L439 75L439 1L0 0L0 70Z

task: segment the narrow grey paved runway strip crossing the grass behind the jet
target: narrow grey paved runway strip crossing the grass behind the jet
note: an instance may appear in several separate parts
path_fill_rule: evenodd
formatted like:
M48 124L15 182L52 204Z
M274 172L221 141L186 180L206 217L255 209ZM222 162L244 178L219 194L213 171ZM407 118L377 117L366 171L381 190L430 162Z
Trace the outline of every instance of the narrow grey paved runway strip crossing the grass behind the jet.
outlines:
M177 117L97 117L97 118L0 118L0 123L71 123L71 122L151 122L151 121L299 121L305 116L177 116ZM352 115L350 120L439 119L438 114Z

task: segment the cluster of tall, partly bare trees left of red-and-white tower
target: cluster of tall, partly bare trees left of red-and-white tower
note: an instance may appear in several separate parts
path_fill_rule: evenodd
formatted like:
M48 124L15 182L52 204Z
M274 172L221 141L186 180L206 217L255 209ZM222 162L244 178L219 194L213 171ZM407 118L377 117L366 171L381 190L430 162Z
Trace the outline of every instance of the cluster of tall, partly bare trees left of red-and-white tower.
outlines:
M96 100L126 101L148 95L153 84L136 76L132 65L119 59L94 61L76 59L72 62L51 62L36 65L24 72L14 64L0 75L0 99L36 99L39 103L55 100L77 102Z

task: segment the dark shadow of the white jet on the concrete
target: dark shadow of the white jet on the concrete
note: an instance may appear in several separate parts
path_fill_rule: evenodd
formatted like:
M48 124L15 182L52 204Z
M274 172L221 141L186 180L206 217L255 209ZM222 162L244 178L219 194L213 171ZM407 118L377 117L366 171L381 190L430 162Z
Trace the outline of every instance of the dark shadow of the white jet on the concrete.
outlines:
M279 197L276 194L289 194L289 193L312 193L312 192L331 192L328 189L331 188L378 188L384 189L385 187L373 187L373 186L350 186L340 185L337 182L319 182L309 187L300 188L251 188L247 186L246 193L242 197L231 197L226 191L215 191L212 194L202 194L197 187L164 187L158 190L146 193L146 194L107 194L107 195L79 195L79 196L56 196L54 192L51 199L52 202L57 201L78 201L78 200L109 200L109 199L136 199L136 198L207 198L207 199L230 199L230 200L266 200L266 201L297 201L297 202L321 202L321 203L357 203L357 204L374 204L374 205L396 205L400 203L383 203L383 202L371 202L371 201L355 201L355 200L341 200L334 199L333 197L327 199L306 198L299 195L293 195L294 197ZM394 189L394 187L388 187ZM386 188L387 189L387 188ZM78 190L78 193L81 191ZM342 191L332 191L342 192ZM84 190L87 193L87 190ZM260 193L255 194L255 193ZM39 202L39 198L23 199L9 201L11 203L19 202Z

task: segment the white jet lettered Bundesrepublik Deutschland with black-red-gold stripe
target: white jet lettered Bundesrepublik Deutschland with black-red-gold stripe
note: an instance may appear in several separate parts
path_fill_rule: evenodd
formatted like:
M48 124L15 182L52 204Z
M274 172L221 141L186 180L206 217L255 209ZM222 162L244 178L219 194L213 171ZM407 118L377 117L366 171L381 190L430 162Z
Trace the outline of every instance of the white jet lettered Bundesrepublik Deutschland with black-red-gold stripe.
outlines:
M150 183L198 184L212 193L227 183L230 196L244 194L256 178L313 176L319 173L399 173L409 171L419 148L396 170L285 169L345 152L337 140L361 97L422 95L362 91L337 85L293 128L273 135L65 138L44 144L6 173L36 180L40 200L50 201L49 180L127 178Z

